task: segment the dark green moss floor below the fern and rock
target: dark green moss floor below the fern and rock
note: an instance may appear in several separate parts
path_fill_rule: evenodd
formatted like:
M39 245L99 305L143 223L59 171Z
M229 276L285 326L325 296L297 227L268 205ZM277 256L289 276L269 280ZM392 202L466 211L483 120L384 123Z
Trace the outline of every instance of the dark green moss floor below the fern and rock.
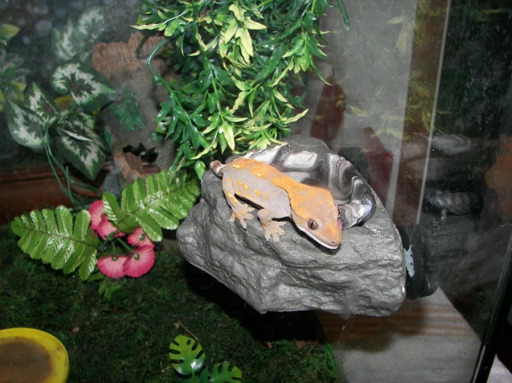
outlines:
M337 382L314 313L261 315L177 249L159 252L148 274L126 279L107 301L100 281L64 276L21 254L16 241L1 228L0 328L38 328L60 339L70 383L179 382L168 346L191 333L207 365L238 366L244 382Z

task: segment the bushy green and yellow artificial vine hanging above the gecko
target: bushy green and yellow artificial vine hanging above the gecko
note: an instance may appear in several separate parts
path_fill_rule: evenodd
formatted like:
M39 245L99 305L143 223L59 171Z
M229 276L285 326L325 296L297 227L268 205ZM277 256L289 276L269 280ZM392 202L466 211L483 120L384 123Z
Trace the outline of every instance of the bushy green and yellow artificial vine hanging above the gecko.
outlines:
M337 1L348 26L341 0ZM301 73L321 51L319 19L326 0L143 0L139 30L164 39L148 57L157 84L169 93L162 102L157 131L177 144L173 169L224 153L263 148L288 135L306 114L303 96L293 91ZM166 82L152 68L166 47L180 81Z

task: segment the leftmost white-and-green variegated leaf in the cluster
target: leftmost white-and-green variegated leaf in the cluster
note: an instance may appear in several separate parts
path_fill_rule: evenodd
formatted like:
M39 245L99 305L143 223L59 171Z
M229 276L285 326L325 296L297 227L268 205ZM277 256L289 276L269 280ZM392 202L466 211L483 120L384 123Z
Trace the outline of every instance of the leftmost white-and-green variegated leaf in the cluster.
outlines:
M16 142L24 147L43 147L44 121L35 111L14 102L8 102L6 111L9 131Z

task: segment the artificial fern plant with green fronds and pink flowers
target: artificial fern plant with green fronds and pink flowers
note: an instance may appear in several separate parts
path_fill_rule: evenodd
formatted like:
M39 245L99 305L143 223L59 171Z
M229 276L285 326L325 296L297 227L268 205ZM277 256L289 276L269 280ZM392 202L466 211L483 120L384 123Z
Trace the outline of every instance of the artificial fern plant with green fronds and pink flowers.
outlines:
M67 207L60 206L23 214L10 227L20 237L18 245L23 252L63 270L64 274L78 269L82 281L91 277L100 256L109 258L105 259L105 268L100 267L107 277L139 277L150 267L141 273L136 270L130 273L126 267L123 269L123 263L131 259L139 261L141 252L148 250L145 246L161 241L162 228L176 229L199 194L197 178L185 173L177 177L164 170L128 185L121 194L121 206L113 194L105 192L103 199L93 203L89 211L82 209L74 218ZM130 233L136 233L135 238L127 239L134 249L122 238ZM113 270L113 262L119 258L121 261L116 265L121 269ZM105 292L105 284L100 292Z

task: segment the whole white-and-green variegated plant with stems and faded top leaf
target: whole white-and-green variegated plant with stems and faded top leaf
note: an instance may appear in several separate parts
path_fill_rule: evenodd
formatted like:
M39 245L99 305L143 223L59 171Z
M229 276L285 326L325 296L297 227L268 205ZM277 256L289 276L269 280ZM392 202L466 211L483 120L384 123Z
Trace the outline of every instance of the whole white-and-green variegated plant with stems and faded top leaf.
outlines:
M105 106L116 91L89 63L91 44L98 39L103 25L102 9L91 7L78 20L68 19L62 32L53 30L53 53L60 64L50 82L56 93L65 96L60 97L61 102L53 100L34 82L24 97L9 100L6 106L12 137L25 147L44 148L59 183L55 166L60 167L68 182L71 180L55 152L89 180L96 178L109 153L107 143L96 132L96 117L92 113ZM70 102L62 102L63 98ZM71 189L61 186L76 204Z

